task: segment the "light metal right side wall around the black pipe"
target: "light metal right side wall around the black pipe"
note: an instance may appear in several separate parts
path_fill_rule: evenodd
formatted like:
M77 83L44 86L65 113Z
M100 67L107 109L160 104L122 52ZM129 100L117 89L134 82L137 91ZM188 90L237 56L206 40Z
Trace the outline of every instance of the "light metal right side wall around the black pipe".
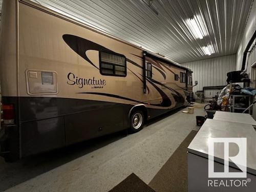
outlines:
M243 33L243 37L237 52L237 68L236 68L237 70L241 70L244 50L255 29L256 29L256 1L253 1L251 10L247 19L247 23L245 26L245 30ZM249 61L247 73L250 73L250 66L256 61L255 44L256 42L254 41L254 43L252 44L252 46L254 45L254 49L251 51L250 54L248 54L249 59L247 57L248 59L247 61Z

